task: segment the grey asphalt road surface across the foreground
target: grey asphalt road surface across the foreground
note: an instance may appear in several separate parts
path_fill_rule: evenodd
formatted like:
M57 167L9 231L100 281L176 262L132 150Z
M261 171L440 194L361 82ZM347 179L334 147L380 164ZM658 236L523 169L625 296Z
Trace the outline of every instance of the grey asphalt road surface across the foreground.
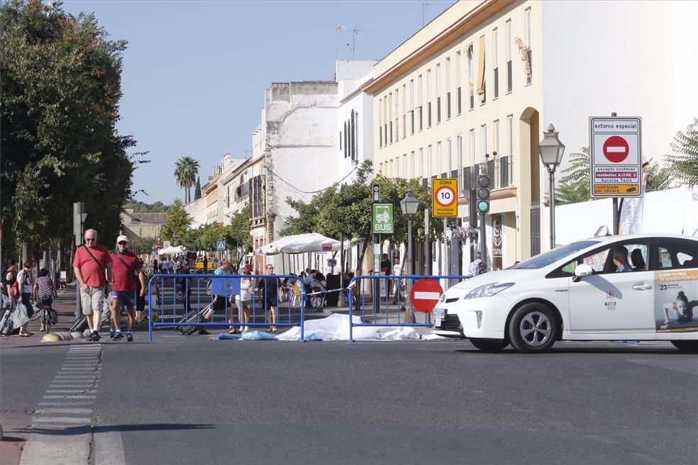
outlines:
M3 349L0 410L37 408L67 353ZM698 357L665 343L159 335L104 344L92 437L126 464L695 464L697 393Z

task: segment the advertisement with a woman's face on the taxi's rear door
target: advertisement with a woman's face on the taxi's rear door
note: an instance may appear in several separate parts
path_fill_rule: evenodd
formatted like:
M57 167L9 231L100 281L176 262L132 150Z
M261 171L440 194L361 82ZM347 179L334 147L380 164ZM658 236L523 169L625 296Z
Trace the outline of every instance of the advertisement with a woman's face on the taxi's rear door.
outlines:
M659 271L655 285L657 332L698 330L698 270Z

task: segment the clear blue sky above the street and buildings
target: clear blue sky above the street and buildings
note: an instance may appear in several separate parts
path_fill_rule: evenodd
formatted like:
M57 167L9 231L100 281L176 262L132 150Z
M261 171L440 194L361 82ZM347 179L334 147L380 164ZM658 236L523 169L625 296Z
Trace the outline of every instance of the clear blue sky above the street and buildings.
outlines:
M426 4L426 6L425 6ZM184 198L174 181L183 155L205 184L223 154L248 156L272 82L331 80L336 58L380 60L453 1L78 1L123 54L122 135L150 151L134 174L140 201ZM336 25L345 26L336 32Z

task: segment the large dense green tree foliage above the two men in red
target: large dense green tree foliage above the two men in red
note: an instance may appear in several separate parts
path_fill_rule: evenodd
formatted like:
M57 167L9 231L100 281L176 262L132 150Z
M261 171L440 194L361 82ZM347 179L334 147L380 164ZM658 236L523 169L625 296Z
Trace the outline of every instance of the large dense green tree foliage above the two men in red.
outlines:
M8 245L70 243L72 203L85 225L116 238L143 153L116 130L123 40L60 2L0 4L0 217ZM19 227L21 225L21 227Z

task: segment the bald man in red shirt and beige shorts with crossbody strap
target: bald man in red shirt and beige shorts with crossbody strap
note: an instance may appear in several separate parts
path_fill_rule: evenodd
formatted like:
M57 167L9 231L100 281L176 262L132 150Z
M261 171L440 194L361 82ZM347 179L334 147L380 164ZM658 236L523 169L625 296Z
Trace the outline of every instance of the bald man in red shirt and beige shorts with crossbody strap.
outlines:
M85 231L84 237L85 245L75 251L73 270L80 286L82 313L87 316L87 326L92 332L89 340L97 342L104 296L111 286L111 257L104 245L97 244L96 230Z

